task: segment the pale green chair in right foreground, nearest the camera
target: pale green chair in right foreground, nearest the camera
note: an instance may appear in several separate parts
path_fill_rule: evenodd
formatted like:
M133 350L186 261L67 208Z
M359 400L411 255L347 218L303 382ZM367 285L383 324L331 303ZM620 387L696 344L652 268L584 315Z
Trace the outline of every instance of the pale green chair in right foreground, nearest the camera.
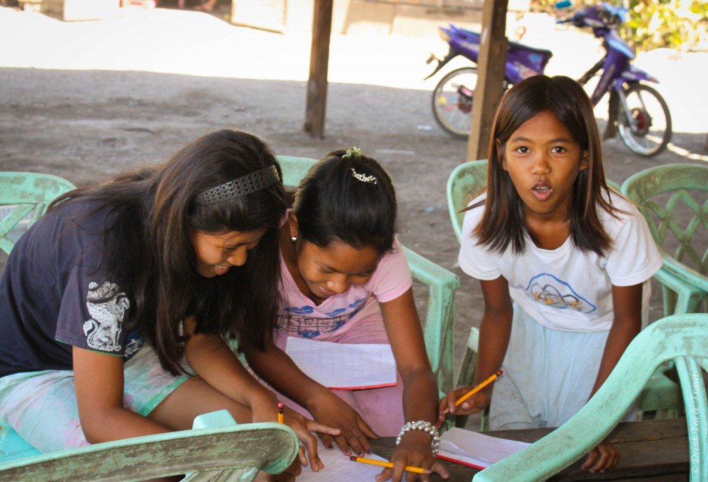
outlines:
M673 360L678 369L690 443L691 482L708 481L708 314L672 315L632 340L617 366L573 418L521 452L476 474L474 482L544 481L587 454L624 417L654 371ZM609 474L609 473L608 473Z

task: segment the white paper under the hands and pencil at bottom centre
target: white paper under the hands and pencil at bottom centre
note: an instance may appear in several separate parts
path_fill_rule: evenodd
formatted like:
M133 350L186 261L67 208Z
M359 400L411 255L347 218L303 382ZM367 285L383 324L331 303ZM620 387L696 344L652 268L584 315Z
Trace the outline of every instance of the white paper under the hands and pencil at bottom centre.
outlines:
M302 467L302 474L297 476L297 482L370 482L374 481L376 476L384 469L383 467L353 462L340 449L336 448L336 445L332 450L324 448L321 440L318 440L317 443L317 453L319 458L322 459L324 469L319 472L313 472L309 466ZM386 459L374 454L367 454L366 458L386 461Z

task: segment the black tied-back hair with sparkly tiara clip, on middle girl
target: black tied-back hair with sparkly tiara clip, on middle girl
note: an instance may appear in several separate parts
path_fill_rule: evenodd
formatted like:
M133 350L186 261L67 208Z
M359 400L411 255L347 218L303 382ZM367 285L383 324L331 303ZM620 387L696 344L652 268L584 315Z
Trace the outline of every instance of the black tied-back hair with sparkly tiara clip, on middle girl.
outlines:
M393 248L396 192L384 168L358 149L333 151L312 166L292 210L299 236L320 248L333 241L379 253Z

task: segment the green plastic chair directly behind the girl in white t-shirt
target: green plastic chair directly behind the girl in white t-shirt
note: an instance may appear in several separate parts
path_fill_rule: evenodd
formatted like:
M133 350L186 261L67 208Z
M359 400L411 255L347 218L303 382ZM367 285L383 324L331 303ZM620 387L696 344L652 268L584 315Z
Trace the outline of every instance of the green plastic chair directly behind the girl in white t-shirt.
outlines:
M462 240L462 221L464 212L477 195L484 190L487 178L487 161L469 161L457 166L450 177L447 178L447 208L450 212L450 222L455 231L457 241ZM611 188L619 191L619 185L612 180L607 180ZM660 280L661 281L661 280ZM479 347L479 328L472 326L469 330L467 348L462 358L462 365L459 369L457 384L469 384L474 377L476 367L476 353ZM678 415L681 402L678 386L664 374L665 370L656 373L649 384L641 392L639 397L638 410L640 413L656 411L657 418L668 418ZM464 427L467 424L467 416L459 415L455 418L457 427ZM485 409L481 416L480 430L486 431L489 428L489 408Z

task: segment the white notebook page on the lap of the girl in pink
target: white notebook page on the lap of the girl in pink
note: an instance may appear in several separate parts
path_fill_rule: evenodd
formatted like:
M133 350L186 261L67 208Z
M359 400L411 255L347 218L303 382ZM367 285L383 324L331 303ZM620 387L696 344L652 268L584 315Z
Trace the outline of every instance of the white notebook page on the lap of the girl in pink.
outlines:
M390 345L330 343L291 336L285 352L308 377L330 389L396 384L396 360Z

